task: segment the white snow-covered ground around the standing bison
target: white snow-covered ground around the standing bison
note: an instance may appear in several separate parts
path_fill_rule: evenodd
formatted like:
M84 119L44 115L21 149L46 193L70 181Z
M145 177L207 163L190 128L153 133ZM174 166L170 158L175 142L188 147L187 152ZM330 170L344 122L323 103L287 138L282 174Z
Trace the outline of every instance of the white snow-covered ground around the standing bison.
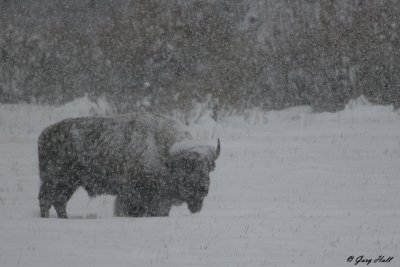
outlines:
M192 130L221 156L203 210L113 217L78 190L68 220L39 218L36 139L65 117L107 111L0 105L0 266L400 266L400 113L363 98L338 113L251 111ZM349 256L354 256L351 263ZM360 262L358 266L366 266Z

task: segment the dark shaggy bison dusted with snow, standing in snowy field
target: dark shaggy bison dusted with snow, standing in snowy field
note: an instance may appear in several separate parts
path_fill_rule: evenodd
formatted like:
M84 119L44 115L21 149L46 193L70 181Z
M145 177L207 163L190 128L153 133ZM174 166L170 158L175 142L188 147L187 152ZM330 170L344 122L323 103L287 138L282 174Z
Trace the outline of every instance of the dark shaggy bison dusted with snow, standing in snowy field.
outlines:
M185 127L167 116L137 112L81 117L53 124L38 139L41 217L66 205L83 187L90 197L115 195L116 216L168 216L187 203L199 212L220 154L196 143Z

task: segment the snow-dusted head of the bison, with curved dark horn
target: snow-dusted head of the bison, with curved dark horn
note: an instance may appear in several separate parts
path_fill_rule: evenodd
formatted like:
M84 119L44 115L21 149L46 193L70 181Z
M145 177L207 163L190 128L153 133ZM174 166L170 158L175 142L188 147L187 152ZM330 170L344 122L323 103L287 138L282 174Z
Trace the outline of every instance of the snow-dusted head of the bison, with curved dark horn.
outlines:
M171 149L167 166L173 176L175 197L186 202L190 212L199 212L210 187L210 172L221 151L220 142L212 146L180 142Z

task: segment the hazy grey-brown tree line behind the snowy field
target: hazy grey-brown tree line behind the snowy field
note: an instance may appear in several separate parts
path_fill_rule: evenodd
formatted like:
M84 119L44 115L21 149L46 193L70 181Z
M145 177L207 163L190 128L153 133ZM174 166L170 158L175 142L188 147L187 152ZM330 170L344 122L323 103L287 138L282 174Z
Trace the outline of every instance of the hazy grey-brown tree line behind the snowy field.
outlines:
M0 102L400 106L395 0L0 0Z

